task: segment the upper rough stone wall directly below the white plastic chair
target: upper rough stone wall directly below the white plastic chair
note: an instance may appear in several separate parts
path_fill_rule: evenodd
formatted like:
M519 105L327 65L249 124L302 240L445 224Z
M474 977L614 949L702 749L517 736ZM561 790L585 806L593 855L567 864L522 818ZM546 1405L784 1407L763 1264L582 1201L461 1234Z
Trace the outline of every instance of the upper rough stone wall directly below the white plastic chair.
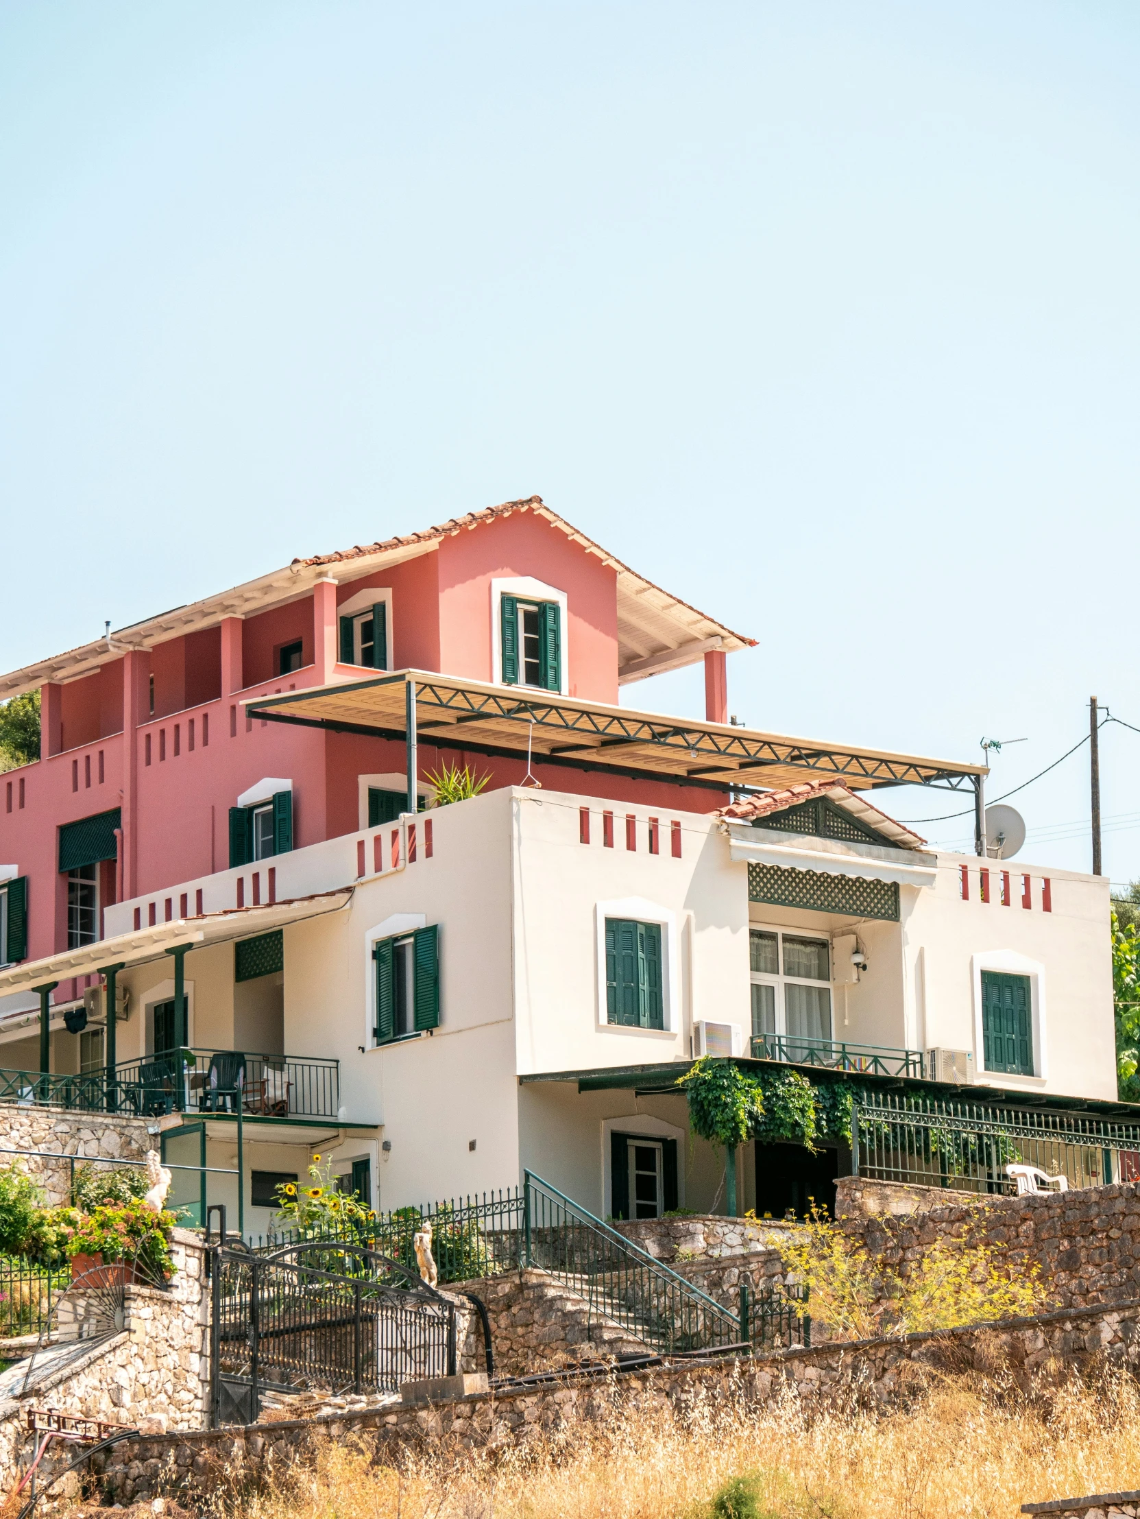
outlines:
M915 1195L917 1194L917 1195ZM911 1206L912 1205L912 1206ZM844 1230L905 1274L940 1236L985 1244L994 1264L1035 1262L1058 1306L1131 1300L1140 1294L1140 1183L1031 1197L985 1197L940 1188L894 1188L844 1177L836 1186Z

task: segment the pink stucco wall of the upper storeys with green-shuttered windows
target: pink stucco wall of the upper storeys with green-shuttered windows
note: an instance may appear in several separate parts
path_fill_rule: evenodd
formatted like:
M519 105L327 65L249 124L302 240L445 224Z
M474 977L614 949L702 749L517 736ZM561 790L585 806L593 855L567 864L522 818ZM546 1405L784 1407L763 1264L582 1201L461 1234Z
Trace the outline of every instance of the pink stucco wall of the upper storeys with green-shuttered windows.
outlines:
M161 892L229 863L228 814L263 776L293 782L294 848L358 826L357 778L402 773L402 741L323 734L255 720L240 700L317 684L332 606L366 586L390 588L393 668L492 677L493 579L530 576L568 597L569 694L618 699L616 576L600 559L531 513L516 513L445 538L439 548L379 574L319 586L322 627L311 595L287 606L158 644L149 655L114 659L96 674L44 688L44 753L38 764L0 776L0 863L29 876L29 955L67 943L67 890L58 875L58 828L112 807L128 835L120 861L121 895ZM337 576L335 579L340 580ZM302 641L304 667L276 676L276 653ZM325 652L322 653L322 649ZM345 667L328 668L348 676ZM155 711L150 715L150 677ZM123 734L124 712L128 725ZM134 714L134 715L131 715ZM65 744L62 752L59 746ZM149 756L149 758L147 758ZM102 763L102 779L100 779ZM420 743L420 773L469 763L492 787L516 784L525 760L487 758ZM669 782L534 764L559 790L648 805L721 805L718 791L694 793ZM18 805L20 784L24 805ZM8 810L8 796L12 807ZM109 895L115 872L105 870ZM105 901L105 905L109 905ZM61 989L61 993L64 990Z

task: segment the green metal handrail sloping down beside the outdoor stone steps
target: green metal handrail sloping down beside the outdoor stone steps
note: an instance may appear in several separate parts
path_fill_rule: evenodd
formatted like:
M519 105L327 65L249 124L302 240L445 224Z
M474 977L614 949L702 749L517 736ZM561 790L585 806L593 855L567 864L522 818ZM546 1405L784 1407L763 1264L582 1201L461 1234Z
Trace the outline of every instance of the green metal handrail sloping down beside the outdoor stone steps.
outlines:
M612 1224L524 1171L524 1265L572 1284L590 1314L654 1349L739 1344L739 1318Z

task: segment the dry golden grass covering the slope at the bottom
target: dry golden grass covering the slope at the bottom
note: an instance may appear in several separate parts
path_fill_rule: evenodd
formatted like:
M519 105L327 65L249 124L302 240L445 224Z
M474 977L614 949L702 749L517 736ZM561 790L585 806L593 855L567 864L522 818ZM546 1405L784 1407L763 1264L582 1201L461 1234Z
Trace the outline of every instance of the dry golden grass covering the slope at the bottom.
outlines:
M1012 1519L1022 1502L1140 1484L1140 1391L1126 1376L1037 1397L940 1379L891 1414L697 1404L683 1425L638 1413L399 1467L329 1443L240 1519L706 1519L739 1475L759 1519Z

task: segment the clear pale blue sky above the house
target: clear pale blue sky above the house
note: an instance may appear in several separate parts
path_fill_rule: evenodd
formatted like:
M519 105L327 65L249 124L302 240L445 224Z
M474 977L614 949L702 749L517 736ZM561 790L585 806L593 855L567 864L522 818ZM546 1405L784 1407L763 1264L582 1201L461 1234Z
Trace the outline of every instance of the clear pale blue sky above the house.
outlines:
M1140 726L1138 147L1111 0L9 0L0 667L539 492L742 718L997 794ZM1017 804L1088 867L1087 749Z

